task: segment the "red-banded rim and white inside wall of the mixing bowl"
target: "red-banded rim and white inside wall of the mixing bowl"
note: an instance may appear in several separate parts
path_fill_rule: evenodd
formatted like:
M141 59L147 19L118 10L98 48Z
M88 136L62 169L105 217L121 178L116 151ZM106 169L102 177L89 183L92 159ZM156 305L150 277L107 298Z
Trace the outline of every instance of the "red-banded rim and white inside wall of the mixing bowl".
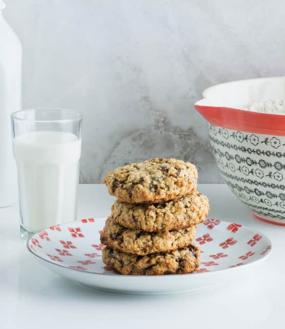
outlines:
M285 116L250 112L251 104L285 98L285 77L233 81L210 87L194 106L212 125L248 133L285 136Z

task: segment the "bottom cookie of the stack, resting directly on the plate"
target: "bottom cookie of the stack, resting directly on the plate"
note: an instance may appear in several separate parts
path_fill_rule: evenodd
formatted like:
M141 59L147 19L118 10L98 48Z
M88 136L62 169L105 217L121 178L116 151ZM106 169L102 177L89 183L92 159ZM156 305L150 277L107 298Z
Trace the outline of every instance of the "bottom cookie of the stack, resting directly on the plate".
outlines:
M113 250L109 247L102 252L104 263L120 274L162 275L194 272L200 265L200 250L194 245L168 253L138 256Z

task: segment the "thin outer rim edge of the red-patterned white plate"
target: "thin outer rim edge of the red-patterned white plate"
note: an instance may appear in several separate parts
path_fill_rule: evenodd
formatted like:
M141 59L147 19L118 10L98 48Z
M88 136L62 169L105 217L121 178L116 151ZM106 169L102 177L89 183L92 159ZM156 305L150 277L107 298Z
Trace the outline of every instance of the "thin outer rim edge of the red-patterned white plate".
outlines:
M105 220L106 221L106 218L107 218L108 216L106 216L106 217L95 217L96 218L96 220ZM211 218L211 219L213 219L213 218ZM221 220L219 220L221 223L228 223L228 224L232 224L231 222L227 222L227 221L221 221ZM71 222L66 222L66 223L62 223L62 224L55 224L55 225L69 225L69 224L72 224L72 223L82 223L82 220L77 220L77 221L71 221ZM201 223L202 224L202 223ZM238 223L237 223L238 224ZM251 228L249 228L249 227L247 227L247 226L245 226L245 225L241 225L242 226L242 228L245 228L245 229L247 229L247 230L250 230L250 231L253 231L253 229L251 229ZM32 240L32 238L34 238L35 237L35 235L36 234L38 234L39 232L41 232L41 231L45 231L45 230L47 230L47 229L49 229L50 227L47 227L47 228L44 228L44 229L42 229L42 230L40 230L40 231L38 231L38 232L36 232L36 233L34 233L28 240L27 240L27 243L26 243L26 247L27 247L27 249L28 249L28 251L32 254L32 255L34 255L35 257L37 257L38 259L40 259L40 260L43 260L43 261L46 261L46 262L48 262L49 264L52 264L52 265L55 265L55 266L58 266L59 268L64 268L64 269L67 269L67 270L71 270L71 271L76 271L76 272L79 272L79 273L89 273L89 274L92 274L92 275L102 275L102 276L104 276L104 277L112 277L113 275L106 275L106 274L103 274L103 273L94 273L94 272L92 272L92 271L82 271L82 270L78 270L78 269L73 269L73 268L70 268L70 267L68 267L68 266L66 266L66 265L64 265L64 264L60 264L60 263L56 263L56 262L53 262L53 261L51 261L51 260L49 260L49 259L45 259L45 258L43 258L43 257L40 257L37 253L35 253L31 248L30 248L30 246L29 246L29 244L30 244L30 242L31 242L31 240ZM272 253L272 249L273 249L273 244L272 244L272 242L271 242L271 240L267 237L267 235L264 235L262 232L260 232L260 231L258 231L258 230L255 230L254 231L255 233L258 233L258 234L261 234L262 235L262 237L264 237L264 238L266 238L266 240L268 241L268 246L270 246L271 248L268 250L268 252L266 253L266 254L264 254L264 255L262 255L260 258L258 258L258 259L256 259L256 260L253 260L253 261L251 261L251 262L249 262L249 263L247 263L247 264L244 264L245 266L250 266L250 265L253 265L253 264L256 264L256 263L258 263L258 262L260 262L260 261L263 261L263 260L265 260L265 259L267 259L270 255L271 255L271 253ZM222 270L217 270L217 271L212 271L212 272L202 272L202 273L195 273L195 272L192 272L192 273L186 273L186 274L168 274L168 275L131 275L131 274L125 274L125 275L122 275L122 274L120 274L120 273L117 273L117 272L115 272L117 275L116 275L116 278L118 278L118 277L120 277L120 278L123 278L123 277L127 277L127 278L145 278L145 280L147 280L146 278L153 278L153 277L156 277L156 278L160 278L160 280L161 280L161 277L165 277L165 278L171 278L171 277L177 277L177 275L182 275L182 276L189 276L189 275L199 275L199 276L201 276L201 275L204 275L204 276L206 276L206 275L208 275L209 276L209 274L213 274L213 273L219 273L219 272L223 272L223 271L227 271L227 270L239 270L240 268L242 269L244 266L236 266L236 267L232 267L232 268L226 268L226 269L222 269Z

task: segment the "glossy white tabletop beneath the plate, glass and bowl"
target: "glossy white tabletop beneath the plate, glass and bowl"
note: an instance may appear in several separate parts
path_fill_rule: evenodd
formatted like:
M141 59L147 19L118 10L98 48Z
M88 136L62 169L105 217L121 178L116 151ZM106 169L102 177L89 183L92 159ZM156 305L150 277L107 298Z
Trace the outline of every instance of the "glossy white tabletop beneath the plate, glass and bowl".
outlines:
M273 328L285 311L285 228L254 220L226 185L202 184L210 217L266 234L271 256L253 277L183 295L132 296L80 286L39 264L19 237L18 207L0 209L0 327ZM103 217L114 198L104 185L80 185L78 218ZM245 271L247 268L245 267Z

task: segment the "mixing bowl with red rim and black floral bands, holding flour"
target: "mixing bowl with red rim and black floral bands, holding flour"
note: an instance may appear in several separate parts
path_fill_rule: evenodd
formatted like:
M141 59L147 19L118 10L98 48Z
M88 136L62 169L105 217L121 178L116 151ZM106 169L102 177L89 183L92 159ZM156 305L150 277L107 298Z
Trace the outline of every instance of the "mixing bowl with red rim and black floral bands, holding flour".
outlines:
M285 77L222 83L202 97L195 108L229 188L259 220L285 226L285 115L243 109L285 98Z

